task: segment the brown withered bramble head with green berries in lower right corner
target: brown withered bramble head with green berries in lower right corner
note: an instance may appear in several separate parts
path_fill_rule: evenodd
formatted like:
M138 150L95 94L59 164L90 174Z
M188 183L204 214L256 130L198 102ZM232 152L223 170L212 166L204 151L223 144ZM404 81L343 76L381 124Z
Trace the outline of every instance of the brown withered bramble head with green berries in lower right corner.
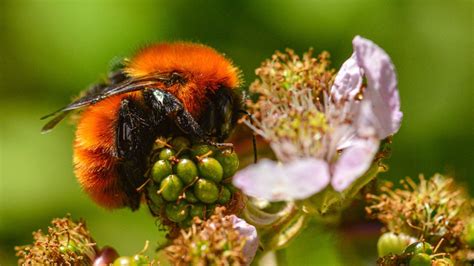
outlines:
M367 214L387 231L378 241L379 264L412 264L422 256L429 265L472 263L473 206L466 192L439 174L429 180L420 175L419 184L410 178L401 183L400 189L386 183L380 195L366 196Z

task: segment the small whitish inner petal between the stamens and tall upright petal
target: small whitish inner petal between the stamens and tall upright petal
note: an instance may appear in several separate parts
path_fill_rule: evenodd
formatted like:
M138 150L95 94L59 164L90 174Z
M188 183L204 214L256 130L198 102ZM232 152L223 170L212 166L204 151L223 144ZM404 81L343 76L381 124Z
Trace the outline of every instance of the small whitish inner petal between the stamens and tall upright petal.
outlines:
M354 53L342 64L341 69L337 73L334 84L331 87L331 98L336 100L336 102L344 98L354 99L360 91L361 85L361 69L357 65Z

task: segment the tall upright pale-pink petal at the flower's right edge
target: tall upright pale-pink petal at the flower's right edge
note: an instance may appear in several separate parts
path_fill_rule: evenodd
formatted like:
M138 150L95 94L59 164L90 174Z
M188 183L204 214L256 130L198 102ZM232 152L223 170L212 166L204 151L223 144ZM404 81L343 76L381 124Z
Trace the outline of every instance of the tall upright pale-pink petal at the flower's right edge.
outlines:
M398 131L402 120L397 77L390 57L372 41L356 36L352 41L357 64L367 77L364 100L375 114L372 126L380 139Z

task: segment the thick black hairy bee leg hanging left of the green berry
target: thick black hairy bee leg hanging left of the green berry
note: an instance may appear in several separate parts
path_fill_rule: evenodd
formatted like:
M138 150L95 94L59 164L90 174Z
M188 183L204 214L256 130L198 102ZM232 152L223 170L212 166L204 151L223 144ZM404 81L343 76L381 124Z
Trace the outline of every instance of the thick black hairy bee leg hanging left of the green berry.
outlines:
M126 204L132 209L140 205L137 188L145 182L146 157L154 141L153 127L145 107L133 99L121 102L116 127L117 171L121 189L127 195Z

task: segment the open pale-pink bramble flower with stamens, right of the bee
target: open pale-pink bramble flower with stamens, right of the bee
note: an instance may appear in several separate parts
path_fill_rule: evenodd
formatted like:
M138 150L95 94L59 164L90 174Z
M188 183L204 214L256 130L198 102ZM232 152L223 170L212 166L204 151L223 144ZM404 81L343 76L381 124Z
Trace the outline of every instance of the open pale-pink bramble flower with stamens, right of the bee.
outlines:
M259 118L249 126L270 142L283 164L262 160L251 165L235 175L236 187L269 201L304 199L329 183L343 191L369 169L380 140L398 131L402 113L389 56L362 37L352 43L354 53L330 88L324 86L324 73L317 77L319 87L305 85L313 82L301 81L307 78L300 74L307 63L298 63L299 58L291 57L285 67L271 64L295 80L286 91L275 85L281 76L272 75L278 71L263 71L263 84L257 84Z

